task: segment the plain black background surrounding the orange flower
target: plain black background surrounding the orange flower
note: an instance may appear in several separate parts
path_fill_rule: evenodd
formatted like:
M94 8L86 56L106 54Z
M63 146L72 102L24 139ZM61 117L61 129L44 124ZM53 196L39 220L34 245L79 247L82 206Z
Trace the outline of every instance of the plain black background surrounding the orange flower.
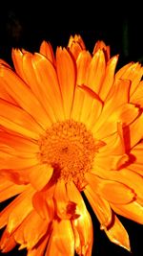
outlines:
M0 58L10 64L12 47L31 52L38 51L43 39L51 41L55 51L57 45L66 46L70 35L82 35L87 48L92 52L95 41L102 39L111 45L112 56L119 54L117 68L129 61L143 62L143 20L138 2L49 2L18 4L6 3L0 9ZM125 6L125 2L127 6ZM132 244L132 254L112 244L92 213L94 227L93 256L141 256L142 226L120 218L126 227ZM5 255L26 256L26 251L14 249ZM54 255L53 255L54 256Z

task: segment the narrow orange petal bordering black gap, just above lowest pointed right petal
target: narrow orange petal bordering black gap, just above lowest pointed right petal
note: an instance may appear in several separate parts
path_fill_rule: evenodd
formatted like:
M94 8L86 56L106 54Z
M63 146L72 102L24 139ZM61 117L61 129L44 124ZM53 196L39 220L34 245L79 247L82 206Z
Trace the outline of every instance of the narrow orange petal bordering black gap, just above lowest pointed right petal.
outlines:
M101 229L105 226L109 226L112 222L112 209L107 200L99 197L94 190L88 185L86 186L84 193L88 198L94 214L101 223Z

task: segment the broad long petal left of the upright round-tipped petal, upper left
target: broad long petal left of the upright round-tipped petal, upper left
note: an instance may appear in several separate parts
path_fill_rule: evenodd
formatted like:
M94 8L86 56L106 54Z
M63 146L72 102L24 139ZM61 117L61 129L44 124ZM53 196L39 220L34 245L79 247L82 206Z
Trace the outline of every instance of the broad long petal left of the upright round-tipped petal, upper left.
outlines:
M26 71L27 63L28 61L24 62ZM52 123L53 120L63 120L64 113L60 87L55 68L51 64L51 61L40 54L34 54L30 59L30 66L32 77L34 77L34 81L36 81L35 85L31 83L31 74L28 74L28 72L26 74L28 74L27 77L33 93L35 91L35 96L46 109ZM36 86L37 88L35 88Z

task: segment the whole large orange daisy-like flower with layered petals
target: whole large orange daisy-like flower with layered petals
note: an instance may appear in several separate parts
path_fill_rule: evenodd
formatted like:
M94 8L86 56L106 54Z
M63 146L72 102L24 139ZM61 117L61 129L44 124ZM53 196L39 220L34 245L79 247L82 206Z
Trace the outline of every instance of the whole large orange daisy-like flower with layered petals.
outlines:
M79 35L67 49L43 41L40 53L12 50L0 64L0 246L28 256L92 255L92 220L130 250L115 216L143 223L143 68Z

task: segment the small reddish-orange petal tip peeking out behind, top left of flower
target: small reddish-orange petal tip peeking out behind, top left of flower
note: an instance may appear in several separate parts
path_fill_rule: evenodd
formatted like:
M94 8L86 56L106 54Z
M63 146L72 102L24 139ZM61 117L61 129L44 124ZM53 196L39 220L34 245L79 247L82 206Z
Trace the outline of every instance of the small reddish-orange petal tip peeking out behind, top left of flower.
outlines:
M55 65L54 54L50 42L43 41L40 45L39 53L48 58L51 63Z

